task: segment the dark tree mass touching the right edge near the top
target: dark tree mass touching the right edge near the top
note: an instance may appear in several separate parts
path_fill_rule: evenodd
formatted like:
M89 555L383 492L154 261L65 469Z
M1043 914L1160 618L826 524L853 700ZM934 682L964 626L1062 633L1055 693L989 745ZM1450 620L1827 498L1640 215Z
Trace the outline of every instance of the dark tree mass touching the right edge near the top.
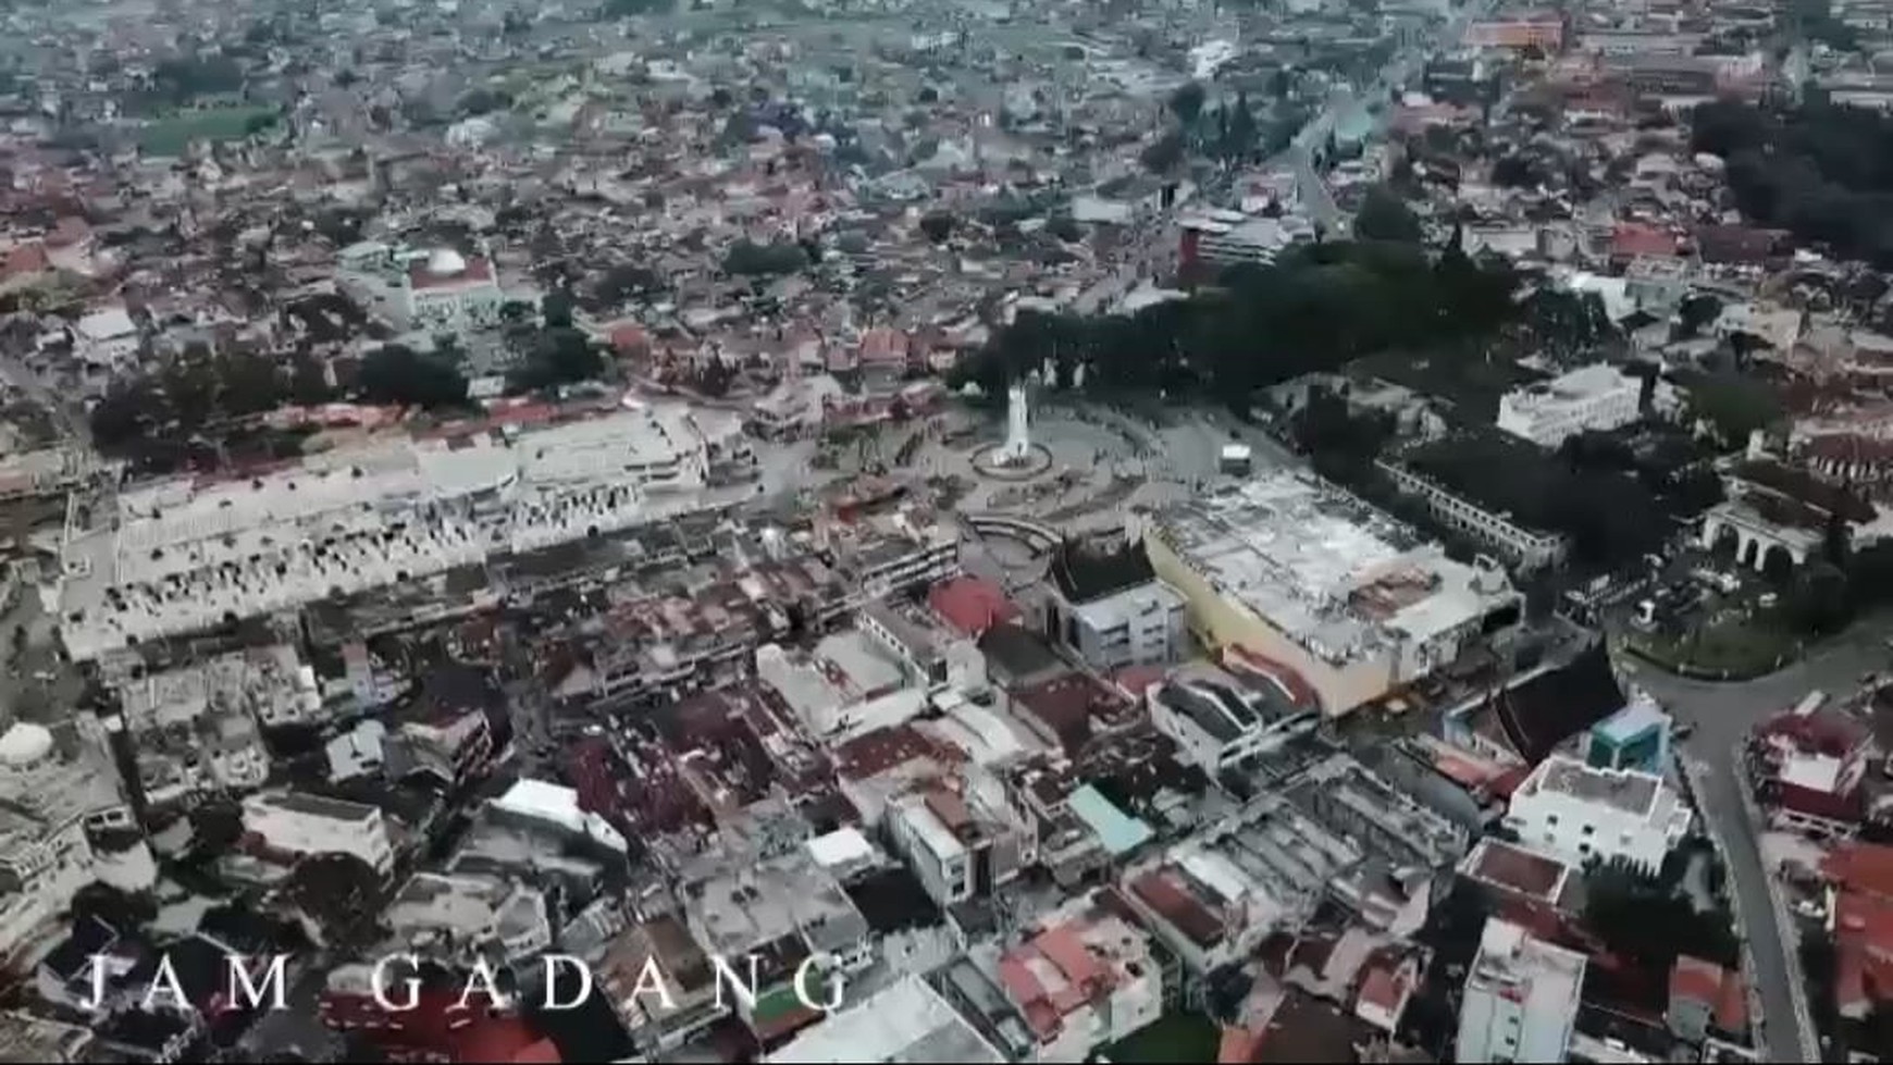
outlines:
M1813 96L1787 110L1719 100L1696 108L1692 146L1728 163L1745 216L1893 267L1893 115Z

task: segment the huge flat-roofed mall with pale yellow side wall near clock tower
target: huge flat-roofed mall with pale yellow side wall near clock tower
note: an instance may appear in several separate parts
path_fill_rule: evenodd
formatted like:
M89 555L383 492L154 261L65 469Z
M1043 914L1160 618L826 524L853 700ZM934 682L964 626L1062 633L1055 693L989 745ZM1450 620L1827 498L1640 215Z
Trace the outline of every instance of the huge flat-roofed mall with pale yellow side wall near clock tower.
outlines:
M1495 562L1454 562L1363 499L1287 469L1170 505L1143 549L1202 643L1266 658L1329 715L1452 664L1522 605Z

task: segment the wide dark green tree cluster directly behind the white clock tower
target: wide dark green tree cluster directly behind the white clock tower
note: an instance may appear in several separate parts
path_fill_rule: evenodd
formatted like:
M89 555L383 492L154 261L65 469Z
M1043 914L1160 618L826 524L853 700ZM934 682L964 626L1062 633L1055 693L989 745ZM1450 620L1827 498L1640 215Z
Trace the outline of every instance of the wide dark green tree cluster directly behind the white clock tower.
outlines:
M1388 242L1299 248L1232 269L1187 301L1132 316L1020 314L954 369L988 395L1051 367L1094 393L1206 393L1246 409L1257 388L1389 350L1477 358L1513 322L1516 278L1450 250Z

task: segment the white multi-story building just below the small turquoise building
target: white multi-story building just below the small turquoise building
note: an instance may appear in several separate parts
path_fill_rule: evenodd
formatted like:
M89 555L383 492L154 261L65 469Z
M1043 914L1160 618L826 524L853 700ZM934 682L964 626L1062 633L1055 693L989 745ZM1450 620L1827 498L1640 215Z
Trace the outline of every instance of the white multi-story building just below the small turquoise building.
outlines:
M1656 872L1689 834L1690 810L1662 777L1552 755L1513 793L1505 825L1571 864L1624 861Z

